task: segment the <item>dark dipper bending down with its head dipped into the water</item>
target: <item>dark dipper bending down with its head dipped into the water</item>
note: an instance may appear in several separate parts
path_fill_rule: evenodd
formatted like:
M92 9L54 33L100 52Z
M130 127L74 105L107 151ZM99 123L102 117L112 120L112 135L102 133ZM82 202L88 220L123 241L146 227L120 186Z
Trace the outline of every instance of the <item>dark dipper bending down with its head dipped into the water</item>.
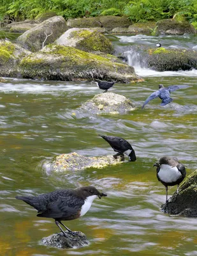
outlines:
M106 140L115 152L118 152L113 156L115 159L117 158L117 156L122 156L122 159L124 160L124 154L126 154L129 157L129 162L136 161L135 151L128 141L115 136L99 136Z

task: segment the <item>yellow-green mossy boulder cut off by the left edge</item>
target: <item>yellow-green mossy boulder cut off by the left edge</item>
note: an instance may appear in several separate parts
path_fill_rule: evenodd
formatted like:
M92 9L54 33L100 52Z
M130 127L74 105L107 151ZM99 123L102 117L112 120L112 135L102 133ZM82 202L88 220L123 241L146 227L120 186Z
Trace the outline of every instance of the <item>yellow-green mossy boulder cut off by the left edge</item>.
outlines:
M30 53L17 44L0 40L0 76L18 76L18 63Z

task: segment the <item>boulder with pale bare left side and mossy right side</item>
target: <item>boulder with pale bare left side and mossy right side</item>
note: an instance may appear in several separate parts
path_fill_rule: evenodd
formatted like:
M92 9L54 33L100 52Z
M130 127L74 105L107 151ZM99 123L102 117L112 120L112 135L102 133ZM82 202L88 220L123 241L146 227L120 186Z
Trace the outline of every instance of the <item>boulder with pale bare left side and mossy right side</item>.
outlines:
M95 29L68 29L55 41L55 44L76 47L77 49L87 52L113 52L110 40Z

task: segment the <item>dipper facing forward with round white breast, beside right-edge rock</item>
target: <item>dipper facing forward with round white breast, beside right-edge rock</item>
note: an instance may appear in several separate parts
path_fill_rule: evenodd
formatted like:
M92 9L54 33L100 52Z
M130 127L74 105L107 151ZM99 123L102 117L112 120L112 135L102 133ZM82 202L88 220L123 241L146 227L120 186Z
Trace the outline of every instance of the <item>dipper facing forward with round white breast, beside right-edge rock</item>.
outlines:
M168 203L168 186L177 185L179 194L179 184L186 177L186 168L179 163L177 157L164 156L159 159L157 166L157 179L166 187L166 204Z

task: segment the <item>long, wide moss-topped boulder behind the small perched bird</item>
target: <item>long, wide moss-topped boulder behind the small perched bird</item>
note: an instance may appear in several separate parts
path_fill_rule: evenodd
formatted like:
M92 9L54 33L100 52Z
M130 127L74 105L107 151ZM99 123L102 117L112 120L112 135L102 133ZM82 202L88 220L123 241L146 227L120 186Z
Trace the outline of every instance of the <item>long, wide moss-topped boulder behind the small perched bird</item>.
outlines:
M48 80L108 79L122 83L137 81L134 68L62 45L47 45L20 62L22 77Z

